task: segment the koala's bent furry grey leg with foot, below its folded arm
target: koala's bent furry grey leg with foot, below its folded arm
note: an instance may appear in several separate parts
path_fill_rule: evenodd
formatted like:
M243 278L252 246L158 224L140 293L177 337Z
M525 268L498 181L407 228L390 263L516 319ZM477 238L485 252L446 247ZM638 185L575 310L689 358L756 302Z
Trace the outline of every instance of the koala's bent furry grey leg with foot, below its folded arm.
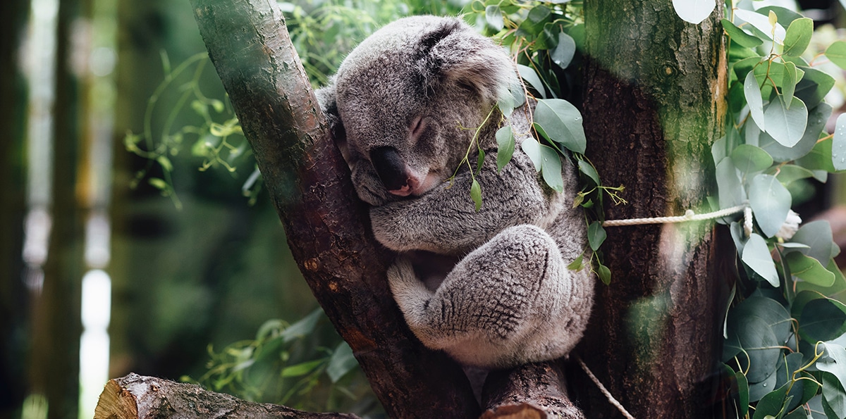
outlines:
M529 225L505 229L475 249L436 291L424 286L406 258L387 276L409 328L424 345L483 367L533 361L524 359L527 346L556 346L530 340L550 327L573 286L552 237Z

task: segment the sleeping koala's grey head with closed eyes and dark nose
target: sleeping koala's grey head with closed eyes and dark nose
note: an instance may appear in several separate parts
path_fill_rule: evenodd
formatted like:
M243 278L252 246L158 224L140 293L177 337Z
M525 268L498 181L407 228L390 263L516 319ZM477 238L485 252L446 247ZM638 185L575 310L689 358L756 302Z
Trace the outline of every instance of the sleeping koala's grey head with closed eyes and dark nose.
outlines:
M388 24L335 79L348 161L369 162L395 196L426 193L452 176L475 133L466 128L478 128L515 79L503 49L459 19Z

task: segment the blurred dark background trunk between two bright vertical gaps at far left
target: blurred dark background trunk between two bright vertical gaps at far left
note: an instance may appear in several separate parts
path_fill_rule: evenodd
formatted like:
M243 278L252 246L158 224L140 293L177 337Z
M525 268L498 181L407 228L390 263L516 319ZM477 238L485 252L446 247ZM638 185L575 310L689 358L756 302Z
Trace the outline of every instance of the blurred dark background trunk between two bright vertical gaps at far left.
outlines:
M43 288L33 293L32 390L47 397L49 418L79 415L84 228L76 199L80 83L70 68L73 22L79 16L79 0L59 3L52 112L52 230Z

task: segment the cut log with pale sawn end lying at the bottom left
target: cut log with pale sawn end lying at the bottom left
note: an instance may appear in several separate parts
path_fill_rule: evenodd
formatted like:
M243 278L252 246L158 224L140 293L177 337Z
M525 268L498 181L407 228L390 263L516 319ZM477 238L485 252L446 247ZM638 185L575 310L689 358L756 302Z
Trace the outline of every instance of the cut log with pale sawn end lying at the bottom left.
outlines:
M310 413L281 405L239 400L162 378L130 373L108 380L97 402L94 419L157 419L168 417L229 417L284 419L354 419L340 413Z

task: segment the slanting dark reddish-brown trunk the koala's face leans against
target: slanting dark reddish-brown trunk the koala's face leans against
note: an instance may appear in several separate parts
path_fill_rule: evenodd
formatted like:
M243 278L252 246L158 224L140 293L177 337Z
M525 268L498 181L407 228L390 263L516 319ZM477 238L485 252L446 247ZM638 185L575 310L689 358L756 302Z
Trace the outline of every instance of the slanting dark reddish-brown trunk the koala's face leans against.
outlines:
M385 279L391 255L365 224L282 14L268 0L191 0L305 280L393 417L471 417L460 367L421 346Z

